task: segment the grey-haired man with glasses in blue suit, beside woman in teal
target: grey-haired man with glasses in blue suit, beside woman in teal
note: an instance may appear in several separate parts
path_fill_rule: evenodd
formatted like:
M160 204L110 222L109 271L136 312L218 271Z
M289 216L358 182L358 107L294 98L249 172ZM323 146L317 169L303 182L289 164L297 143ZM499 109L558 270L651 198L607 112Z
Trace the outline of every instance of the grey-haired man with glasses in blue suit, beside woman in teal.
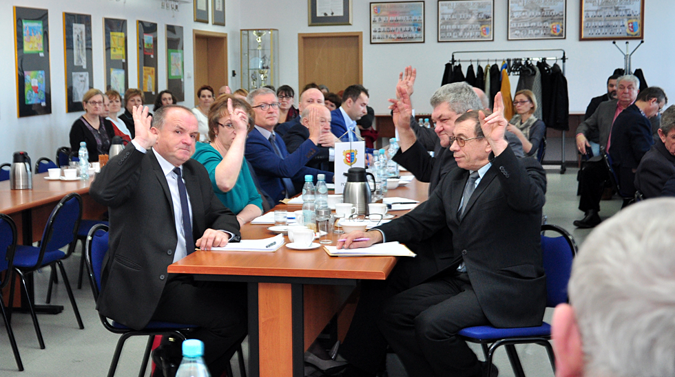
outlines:
M305 166L319 153L320 125L311 124L309 138L289 153L284 140L274 131L279 120L279 101L274 91L264 87L255 89L247 96L247 102L256 113L256 125L246 140L246 160L256 171L260 188L275 203L300 193L304 175L313 175L316 179L317 174L324 174L326 181L333 181L333 173Z

